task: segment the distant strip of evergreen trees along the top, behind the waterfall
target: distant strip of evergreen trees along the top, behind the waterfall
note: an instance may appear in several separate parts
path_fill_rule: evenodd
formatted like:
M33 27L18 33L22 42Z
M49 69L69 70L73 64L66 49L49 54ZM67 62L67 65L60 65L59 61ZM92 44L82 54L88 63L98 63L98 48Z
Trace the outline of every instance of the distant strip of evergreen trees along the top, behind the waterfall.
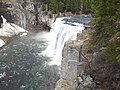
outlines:
M91 11L91 0L45 0L43 3L43 10L53 13Z

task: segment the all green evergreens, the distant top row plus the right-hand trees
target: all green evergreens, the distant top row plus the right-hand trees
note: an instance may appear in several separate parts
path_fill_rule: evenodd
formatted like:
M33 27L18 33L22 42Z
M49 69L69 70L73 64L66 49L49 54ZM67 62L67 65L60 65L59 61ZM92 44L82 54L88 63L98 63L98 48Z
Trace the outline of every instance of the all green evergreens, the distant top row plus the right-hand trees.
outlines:
M38 0L42 1L42 0ZM92 42L107 61L120 61L120 0L44 0L44 11L91 13L95 21Z

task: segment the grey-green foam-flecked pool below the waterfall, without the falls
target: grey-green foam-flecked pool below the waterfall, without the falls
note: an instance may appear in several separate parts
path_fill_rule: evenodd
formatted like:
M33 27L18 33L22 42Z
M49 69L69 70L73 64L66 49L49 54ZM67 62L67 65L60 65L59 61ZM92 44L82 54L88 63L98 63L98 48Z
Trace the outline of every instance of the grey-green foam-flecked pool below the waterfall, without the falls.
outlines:
M0 49L0 90L53 90L59 79L57 66L49 66L40 53L48 32L14 39Z

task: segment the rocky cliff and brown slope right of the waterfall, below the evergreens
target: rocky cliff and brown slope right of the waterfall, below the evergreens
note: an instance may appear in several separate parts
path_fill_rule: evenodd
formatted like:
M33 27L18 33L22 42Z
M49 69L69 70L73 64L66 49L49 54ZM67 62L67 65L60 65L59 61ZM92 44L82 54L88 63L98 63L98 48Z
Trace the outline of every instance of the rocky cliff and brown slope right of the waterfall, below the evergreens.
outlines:
M55 90L120 90L120 63L106 62L101 51L85 48L86 38L85 32L65 44Z

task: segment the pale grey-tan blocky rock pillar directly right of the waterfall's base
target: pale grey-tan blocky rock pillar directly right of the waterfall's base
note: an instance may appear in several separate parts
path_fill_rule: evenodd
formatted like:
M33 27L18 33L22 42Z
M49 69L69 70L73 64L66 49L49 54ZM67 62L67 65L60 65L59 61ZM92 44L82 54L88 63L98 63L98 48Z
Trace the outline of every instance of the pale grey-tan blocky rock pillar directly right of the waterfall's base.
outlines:
M61 79L57 82L55 90L76 90L77 77L79 73L84 72L83 62L79 62L82 44L83 40L68 41L65 44L62 55ZM79 66L82 67L78 73Z

